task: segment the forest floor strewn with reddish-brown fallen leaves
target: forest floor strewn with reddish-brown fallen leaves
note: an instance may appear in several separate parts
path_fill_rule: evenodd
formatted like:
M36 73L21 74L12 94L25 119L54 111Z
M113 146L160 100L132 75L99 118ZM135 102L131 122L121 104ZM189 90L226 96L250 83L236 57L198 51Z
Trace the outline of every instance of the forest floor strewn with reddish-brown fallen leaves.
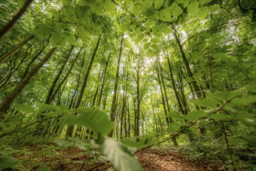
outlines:
M23 162L16 170L114 170L106 159L100 161L97 152L85 152L79 148L54 149L30 148L28 152L15 156ZM191 161L177 150L167 147L152 147L136 152L142 168L153 170L225 170L222 161Z

